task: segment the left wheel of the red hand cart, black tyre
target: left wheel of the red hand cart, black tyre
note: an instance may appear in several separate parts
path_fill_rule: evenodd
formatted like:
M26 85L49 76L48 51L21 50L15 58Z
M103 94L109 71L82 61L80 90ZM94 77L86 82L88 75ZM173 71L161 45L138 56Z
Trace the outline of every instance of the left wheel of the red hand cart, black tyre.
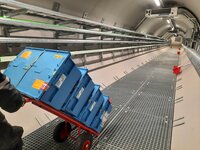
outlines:
M71 124L68 122L60 122L54 129L53 139L58 142L64 142L70 135L72 130Z

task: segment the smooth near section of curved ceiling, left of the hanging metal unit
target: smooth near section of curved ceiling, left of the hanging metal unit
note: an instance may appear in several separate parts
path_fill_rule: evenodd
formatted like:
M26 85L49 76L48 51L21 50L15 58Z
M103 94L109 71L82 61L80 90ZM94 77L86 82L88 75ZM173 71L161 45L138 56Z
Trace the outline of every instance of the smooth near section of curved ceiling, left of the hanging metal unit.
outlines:
M87 12L88 19L119 27L134 28L144 17L145 10L156 8L151 0L19 0L51 9L53 2L61 4L60 11L79 17ZM48 2L47 2L48 1Z

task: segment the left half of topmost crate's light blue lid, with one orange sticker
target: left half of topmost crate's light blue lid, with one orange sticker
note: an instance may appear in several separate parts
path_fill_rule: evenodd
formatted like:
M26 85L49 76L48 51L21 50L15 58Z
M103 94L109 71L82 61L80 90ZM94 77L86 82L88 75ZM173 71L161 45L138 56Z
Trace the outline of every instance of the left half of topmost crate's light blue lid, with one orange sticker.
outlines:
M11 79L11 83L17 86L27 71L43 54L44 49L25 48L12 62L9 63L4 74Z

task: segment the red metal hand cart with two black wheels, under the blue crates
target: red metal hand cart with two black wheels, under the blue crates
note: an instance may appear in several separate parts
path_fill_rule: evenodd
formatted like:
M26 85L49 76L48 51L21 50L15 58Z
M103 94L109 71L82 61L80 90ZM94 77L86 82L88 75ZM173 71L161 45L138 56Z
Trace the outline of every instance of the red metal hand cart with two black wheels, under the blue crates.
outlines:
M89 150L92 145L93 136L98 136L99 133L80 123L79 121L73 119L71 116L63 113L62 111L56 110L55 108L43 103L42 101L38 101L33 98L29 98L24 96L26 102L31 102L32 104L60 117L64 120L64 122L60 122L54 129L53 139L56 142L64 142L67 138L71 138L76 141L76 147L80 150ZM72 128L71 124L75 127ZM72 136L70 133L74 130L78 130L77 137ZM84 131L81 133L81 131Z

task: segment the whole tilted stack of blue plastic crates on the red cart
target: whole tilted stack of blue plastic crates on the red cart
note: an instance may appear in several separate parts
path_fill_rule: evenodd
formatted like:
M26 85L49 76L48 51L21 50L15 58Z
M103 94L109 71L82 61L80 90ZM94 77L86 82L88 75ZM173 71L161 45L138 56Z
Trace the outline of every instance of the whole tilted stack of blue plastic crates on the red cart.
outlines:
M43 101L100 132L109 113L109 97L88 70L78 68L67 51L25 48L4 74L24 95Z

